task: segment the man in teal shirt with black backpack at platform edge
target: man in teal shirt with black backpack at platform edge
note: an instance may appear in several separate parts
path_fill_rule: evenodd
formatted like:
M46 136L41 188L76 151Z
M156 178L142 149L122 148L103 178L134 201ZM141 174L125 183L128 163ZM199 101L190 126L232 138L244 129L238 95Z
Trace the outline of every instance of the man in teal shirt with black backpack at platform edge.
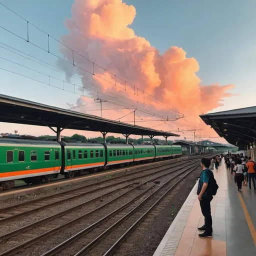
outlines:
M198 227L199 231L204 231L199 234L200 238L212 237L212 218L210 213L210 201L212 200L212 195L215 195L218 189L218 185L214 178L213 172L209 169L210 159L201 159L202 172L200 174L197 195L200 201L200 207L202 215L204 216L204 225Z

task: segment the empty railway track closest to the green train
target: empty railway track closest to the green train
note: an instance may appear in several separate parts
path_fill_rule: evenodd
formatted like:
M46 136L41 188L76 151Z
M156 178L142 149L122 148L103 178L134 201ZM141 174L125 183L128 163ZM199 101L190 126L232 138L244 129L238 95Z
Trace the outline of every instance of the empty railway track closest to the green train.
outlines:
M72 200L72 199L75 199L80 196L85 196L88 193L92 193L92 192L99 191L101 189L106 189L106 188L110 188L112 186L120 185L124 182L132 183L132 181L134 181L135 179L138 179L138 178L141 179L141 178L147 177L149 175L155 175L159 172L166 171L169 168L173 168L173 167L185 164L185 163L188 163L188 164L185 166L182 166L182 167L186 167L186 166L190 165L191 160L185 160L185 161L182 161L182 163L179 162L177 164L165 163L165 164L162 164L157 167L154 166L154 167L146 168L144 170L137 170L137 171L134 171L131 173L125 173L120 176L116 176L116 177L108 178L105 180L86 184L79 188L69 189L64 192L60 192L60 193L48 195L45 197L41 197L38 199L34 199L31 201L27 201L27 202L23 202L23 203L19 203L19 204L14 204L14 205L11 205L8 207L0 208L0 223L5 222L7 220L13 220L17 217L21 217L23 215L27 215L29 213L32 213L32 212L35 212L38 210L42 210L49 206L53 206L53 205L56 205L59 203L64 203L68 200ZM169 166L170 164L171 164L171 166ZM164 167L164 166L167 166L167 167ZM147 172L150 170L154 170L155 168L159 168L159 167L160 167L159 170L149 172L149 173L144 173L141 175L141 172ZM161 168L161 167L164 167L164 168ZM182 168L182 167L180 167L180 168ZM137 176L137 174L140 174L140 175ZM131 176L131 177L127 178L129 176ZM92 188L95 186L97 186L97 187Z

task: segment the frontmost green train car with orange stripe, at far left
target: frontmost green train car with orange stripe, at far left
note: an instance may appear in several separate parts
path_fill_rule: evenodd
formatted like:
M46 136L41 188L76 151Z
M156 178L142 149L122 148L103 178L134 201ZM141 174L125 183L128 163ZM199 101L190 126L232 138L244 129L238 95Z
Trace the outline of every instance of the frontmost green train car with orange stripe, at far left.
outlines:
M10 188L14 179L34 183L56 177L61 169L61 146L57 142L0 139L0 189ZM8 182L3 182L8 181Z

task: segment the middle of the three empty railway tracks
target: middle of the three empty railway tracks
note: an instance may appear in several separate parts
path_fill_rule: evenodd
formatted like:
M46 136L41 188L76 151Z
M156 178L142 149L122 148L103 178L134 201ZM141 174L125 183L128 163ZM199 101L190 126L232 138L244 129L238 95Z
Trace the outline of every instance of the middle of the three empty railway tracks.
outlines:
M193 163L195 163L195 162L197 162L197 163L195 165L193 165L193 166L191 166L191 163L189 163L189 167L188 168L186 168L185 170L182 170L181 172L179 172L177 175L175 175L174 177L169 179L167 182L165 182L159 188L166 187L168 182L170 182L174 178L178 177L181 173L186 172L190 168L194 168L194 167L198 166L198 160L194 161ZM184 164L184 163L182 163L182 164ZM176 164L175 166L177 166L177 165L180 165L180 163ZM5 242L6 242L6 240L8 242L8 239L12 240L12 241L13 240L17 241L17 239L19 239L20 241L22 241L23 239L25 239L25 237L33 236L33 238L31 238L29 240L26 240L23 243L18 244L16 246L10 248L9 250L3 251L0 255L13 255L15 253L18 253L19 251L22 251L25 248L28 248L29 246L33 245L34 243L42 241L43 239L47 238L48 236L51 236L52 234L54 234L56 232L60 232L60 230L63 230L63 228L64 229L65 228L69 228L70 226L75 225L79 221L82 221L83 219L87 219L87 217L89 217L91 214L97 213L97 215L98 215L100 210L104 209L104 207L108 207L109 208L108 210L112 210L111 205L113 205L115 202L118 202L117 204L119 205L119 208L117 207L117 209L114 210L114 212L118 212L121 209L123 209L124 207L128 206L129 204L131 204L133 202L137 202L136 200L138 200L138 198L140 198L140 197L142 198L147 193L149 193L152 188L155 188L157 185L155 183L152 183L152 181L158 180L158 179L160 179L160 178L162 178L162 177L164 177L166 175L172 175L174 172L176 172L176 171L178 171L180 169L183 169L186 166L188 166L188 165L179 167L179 168L177 168L177 169L175 169L173 171L170 171L170 172L167 172L167 173L163 173L163 174L158 175L156 177L147 179L147 180L143 181L140 184L138 184L138 183L129 183L129 184L127 184L126 183L121 188L117 188L117 189L115 189L113 191L110 191L110 192L106 193L104 196L107 196L107 195L109 195L111 193L114 193L117 190L124 191L123 193L117 195L116 197L114 197L113 199L107 201L106 203L96 204L96 205L98 205L96 208L94 208L94 209L92 209L92 210L90 210L90 211L88 211L88 212L86 212L84 214L78 214L78 217L76 217L77 216L77 212L76 212L77 209L81 209L81 211L82 211L83 209L86 208L86 205L88 205L91 202L94 203L95 201L99 201L100 198L103 198L104 196L101 195L101 196L95 197L93 199L87 200L87 201L85 201L85 202L83 202L83 203L81 203L79 205L71 207L70 209L61 211L61 212L59 212L57 214L51 215L49 217L46 217L46 218L41 219L39 221L33 222L31 224L23 226L23 227L21 227L19 229L16 229L14 231L9 232L9 233L3 234L3 235L0 236L0 240L1 241L5 241ZM172 167L174 167L174 166L169 166L167 169L172 168ZM160 171L162 171L162 170L158 170L156 173L158 173ZM152 173L151 174L142 175L142 176L148 176L148 175L152 175ZM139 176L139 177L141 177L141 176ZM139 178L139 177L136 177L136 178ZM122 202L122 201L118 201L118 200L120 200L122 197L125 197L125 196L129 195L129 193L131 193L131 191L133 191L133 192L136 191L136 193L138 193L138 191L140 191L139 189L141 189L141 187L143 187L145 184L147 184L146 190L142 191L142 193L139 193L133 199L130 198L130 200L127 203L125 203L124 205L120 206L120 202ZM159 189L157 189L157 191L158 190ZM152 195L153 194L154 194L154 192L152 193ZM103 210L103 212L104 212L104 210ZM114 214L114 213L111 213L111 214ZM104 217L106 217L106 216L104 216ZM104 217L102 217L102 218L104 219ZM56 219L57 219L57 221L56 221ZM57 223L62 223L62 224L57 225L56 222ZM47 224L45 224L45 223L47 223ZM94 226L95 226L95 224L94 224ZM36 233L38 233L38 231L36 231L36 232L31 231L31 230L36 230L37 227L41 229L41 233L39 235L36 234ZM29 235L27 235L27 233Z

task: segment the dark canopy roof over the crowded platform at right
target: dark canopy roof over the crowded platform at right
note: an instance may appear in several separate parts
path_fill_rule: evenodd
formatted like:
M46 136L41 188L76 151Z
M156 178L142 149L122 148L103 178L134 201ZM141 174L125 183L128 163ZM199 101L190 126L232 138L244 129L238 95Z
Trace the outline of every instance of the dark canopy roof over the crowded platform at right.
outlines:
M220 137L240 149L256 141L256 106L201 114Z

